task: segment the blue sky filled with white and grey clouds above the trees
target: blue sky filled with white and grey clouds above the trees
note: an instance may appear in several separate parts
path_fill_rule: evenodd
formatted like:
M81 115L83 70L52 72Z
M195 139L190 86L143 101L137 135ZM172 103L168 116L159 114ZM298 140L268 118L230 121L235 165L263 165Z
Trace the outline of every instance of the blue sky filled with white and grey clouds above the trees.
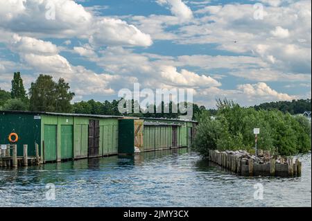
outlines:
M200 105L311 98L311 1L17 0L0 3L0 88L14 71L65 78L75 101L134 83Z

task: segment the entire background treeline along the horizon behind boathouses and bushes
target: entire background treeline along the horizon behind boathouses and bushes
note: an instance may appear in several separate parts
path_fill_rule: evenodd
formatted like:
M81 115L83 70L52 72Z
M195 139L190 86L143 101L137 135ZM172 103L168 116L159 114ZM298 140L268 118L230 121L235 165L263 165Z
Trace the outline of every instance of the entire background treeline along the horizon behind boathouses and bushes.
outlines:
M24 89L21 73L16 72L12 79L11 91L0 89L0 109L2 110L20 110L33 112L60 112L60 113L76 113L76 114L101 114L101 115L116 115L119 116L118 105L120 100L105 100L99 102L96 100L80 101L71 104L75 94L69 91L70 87L63 78L57 82L53 81L52 76L40 75L35 82L31 83L31 87ZM132 100L132 105L135 101ZM169 107L169 113L125 113L124 116L139 116L139 117L153 117L153 118L178 118L180 112L173 113L171 111L173 103L162 103L162 109ZM181 105L181 104L180 104ZM195 103L193 105L193 119L196 119L201 113L206 113L211 116L217 114L217 109L207 109L205 106L199 106ZM184 104L185 106L185 104ZM159 108L159 107L158 107ZM156 110L156 106L153 105ZM281 112L288 112L290 114L302 114L305 111L311 111L311 99L307 100L293 100L293 101L279 101L272 103L263 103L254 106L254 109L278 109Z

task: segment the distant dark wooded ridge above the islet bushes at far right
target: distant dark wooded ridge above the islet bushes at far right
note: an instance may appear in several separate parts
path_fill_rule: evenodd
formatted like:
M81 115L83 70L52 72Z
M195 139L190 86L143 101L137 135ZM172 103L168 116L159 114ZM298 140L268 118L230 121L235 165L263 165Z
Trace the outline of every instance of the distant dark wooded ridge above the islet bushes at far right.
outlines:
M255 105L254 109L278 109L283 113L303 114L304 112L311 111L311 99L263 103L261 105Z

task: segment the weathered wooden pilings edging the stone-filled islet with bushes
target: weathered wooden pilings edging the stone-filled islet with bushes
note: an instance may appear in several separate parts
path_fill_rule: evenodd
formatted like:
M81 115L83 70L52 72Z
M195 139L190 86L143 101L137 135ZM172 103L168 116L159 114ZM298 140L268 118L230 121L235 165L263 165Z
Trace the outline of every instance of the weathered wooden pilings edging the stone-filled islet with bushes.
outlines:
M299 159L294 162L292 157L288 157L286 160L281 159L279 163L274 158L270 158L267 163L260 164L252 158L242 159L235 154L209 150L209 160L232 173L243 176L299 177L302 173L302 162Z

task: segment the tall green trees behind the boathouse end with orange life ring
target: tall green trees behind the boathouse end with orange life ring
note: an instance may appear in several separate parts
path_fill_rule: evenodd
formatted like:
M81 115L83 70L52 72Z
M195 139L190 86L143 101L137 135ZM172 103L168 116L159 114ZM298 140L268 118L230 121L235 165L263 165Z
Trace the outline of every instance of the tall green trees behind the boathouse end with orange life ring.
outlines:
M51 76L40 75L31 83L29 94L26 94L21 73L15 72L11 91L0 89L0 109L71 113L71 100L75 94L69 89L69 84L63 78L54 82Z

